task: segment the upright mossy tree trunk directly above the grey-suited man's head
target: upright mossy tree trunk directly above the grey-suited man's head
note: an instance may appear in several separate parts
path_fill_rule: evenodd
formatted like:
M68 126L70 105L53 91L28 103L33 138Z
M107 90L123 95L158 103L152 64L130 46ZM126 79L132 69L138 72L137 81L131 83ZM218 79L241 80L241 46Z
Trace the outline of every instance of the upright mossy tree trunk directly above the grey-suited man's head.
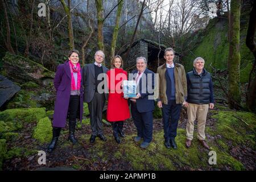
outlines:
M97 9L97 20L98 20L98 48L104 51L104 37L103 37L103 2L102 0L95 0Z

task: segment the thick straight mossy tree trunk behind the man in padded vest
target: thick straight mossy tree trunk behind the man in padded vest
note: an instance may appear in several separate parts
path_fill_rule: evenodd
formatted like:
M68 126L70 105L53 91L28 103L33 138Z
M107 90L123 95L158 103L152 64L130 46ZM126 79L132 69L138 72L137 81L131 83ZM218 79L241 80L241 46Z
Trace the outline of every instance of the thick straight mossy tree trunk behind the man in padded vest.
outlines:
M241 102L240 90L240 7L241 0L230 3L230 41L229 41L229 107L239 109Z

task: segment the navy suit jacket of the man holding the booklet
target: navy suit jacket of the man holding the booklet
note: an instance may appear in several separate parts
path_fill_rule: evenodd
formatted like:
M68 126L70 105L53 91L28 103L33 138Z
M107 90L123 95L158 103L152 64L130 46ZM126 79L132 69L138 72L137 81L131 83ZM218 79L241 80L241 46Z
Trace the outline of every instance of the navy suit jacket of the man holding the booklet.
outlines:
M131 72L134 74L133 80L135 80L137 76L136 74L137 72L138 72L137 69ZM146 68L137 86L137 93L141 94L141 97L136 100L137 109L139 113L146 113L148 111L153 111L155 109L155 101L154 101L155 80L154 79L155 79L155 73ZM151 84L149 83L149 81L151 81Z

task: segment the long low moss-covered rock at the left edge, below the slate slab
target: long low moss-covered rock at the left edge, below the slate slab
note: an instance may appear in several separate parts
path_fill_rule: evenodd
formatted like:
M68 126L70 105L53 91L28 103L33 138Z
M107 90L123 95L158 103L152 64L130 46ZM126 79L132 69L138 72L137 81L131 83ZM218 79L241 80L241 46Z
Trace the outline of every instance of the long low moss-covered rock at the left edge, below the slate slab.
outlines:
M5 122L37 122L46 117L46 108L7 109L0 112L0 120Z

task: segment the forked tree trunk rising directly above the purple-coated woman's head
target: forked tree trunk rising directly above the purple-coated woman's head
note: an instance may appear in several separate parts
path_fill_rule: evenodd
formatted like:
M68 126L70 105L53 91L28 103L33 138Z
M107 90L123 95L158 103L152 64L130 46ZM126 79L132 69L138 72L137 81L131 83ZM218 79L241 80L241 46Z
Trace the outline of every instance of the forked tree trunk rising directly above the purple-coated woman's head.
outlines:
M60 0L65 13L68 16L68 37L69 37L69 48L75 49L74 44L74 35L73 35L73 24L72 24L72 14L71 14L71 0L68 0L68 5L64 2L64 0Z

